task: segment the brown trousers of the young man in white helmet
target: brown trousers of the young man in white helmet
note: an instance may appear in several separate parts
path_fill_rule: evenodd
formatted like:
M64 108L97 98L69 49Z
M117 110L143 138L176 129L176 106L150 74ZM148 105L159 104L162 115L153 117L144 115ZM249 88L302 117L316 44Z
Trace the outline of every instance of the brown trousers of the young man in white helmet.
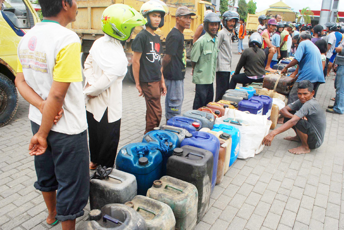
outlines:
M161 81L140 82L144 100L146 101L146 129L144 134L159 127L161 121Z

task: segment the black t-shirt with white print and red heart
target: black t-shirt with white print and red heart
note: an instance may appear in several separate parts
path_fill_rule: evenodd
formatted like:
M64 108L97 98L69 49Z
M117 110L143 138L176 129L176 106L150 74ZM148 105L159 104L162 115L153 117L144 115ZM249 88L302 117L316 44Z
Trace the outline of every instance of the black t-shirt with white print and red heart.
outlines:
M155 82L161 80L161 45L159 35L153 36L143 29L136 35L132 45L132 51L142 52L140 59L140 81Z

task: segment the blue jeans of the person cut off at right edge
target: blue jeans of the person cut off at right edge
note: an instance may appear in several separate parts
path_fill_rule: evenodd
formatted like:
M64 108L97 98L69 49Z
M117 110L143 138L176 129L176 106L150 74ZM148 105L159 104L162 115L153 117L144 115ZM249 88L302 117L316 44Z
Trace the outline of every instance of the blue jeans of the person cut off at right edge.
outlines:
M336 101L333 110L337 113L344 113L344 65L339 65L336 74Z

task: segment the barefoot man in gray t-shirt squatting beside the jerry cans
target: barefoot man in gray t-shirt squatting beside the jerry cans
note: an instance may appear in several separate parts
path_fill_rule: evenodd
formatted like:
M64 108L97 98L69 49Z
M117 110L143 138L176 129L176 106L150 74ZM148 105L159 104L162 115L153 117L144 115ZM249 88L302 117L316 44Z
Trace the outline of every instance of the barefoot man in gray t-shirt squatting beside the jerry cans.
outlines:
M310 153L311 149L319 148L324 140L326 130L326 116L320 104L313 98L313 83L309 80L299 82L297 96L299 100L281 109L280 114L285 117L285 124L273 130L263 140L263 144L270 146L274 137L289 128L293 128L296 136L285 137L289 141L301 142L301 146L290 149L290 153Z

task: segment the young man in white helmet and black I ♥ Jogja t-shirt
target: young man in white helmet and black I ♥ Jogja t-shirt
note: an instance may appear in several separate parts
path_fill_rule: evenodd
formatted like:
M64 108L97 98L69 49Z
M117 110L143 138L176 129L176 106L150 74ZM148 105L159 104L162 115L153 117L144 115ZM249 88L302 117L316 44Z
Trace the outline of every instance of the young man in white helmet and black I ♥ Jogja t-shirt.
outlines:
M166 8L155 1L143 3L141 14L147 20L146 28L138 33L131 45L133 54L133 74L139 97L146 102L146 127L144 133L158 127L161 121L161 96L166 95L162 74L161 54L163 46L159 35L154 31L164 26Z

